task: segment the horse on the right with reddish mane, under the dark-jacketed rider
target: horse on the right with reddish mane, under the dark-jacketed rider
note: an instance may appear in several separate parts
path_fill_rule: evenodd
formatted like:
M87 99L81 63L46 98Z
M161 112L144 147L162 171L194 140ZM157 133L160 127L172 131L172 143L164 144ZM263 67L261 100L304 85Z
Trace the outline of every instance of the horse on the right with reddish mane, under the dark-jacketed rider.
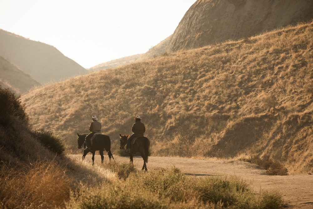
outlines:
M120 142L121 142L120 149L124 149L125 145L127 144L127 138L129 136L130 135L126 135L126 134L121 135L120 134L120 138L121 138L120 139ZM143 159L143 166L142 166L141 170L148 171L146 163L148 163L149 148L150 148L150 141L148 138L146 138L144 136L136 138L135 143L134 144L132 143L132 145L131 145L131 153L129 153L129 156L130 156L129 159L131 162L133 162L133 156L139 152L140 156Z

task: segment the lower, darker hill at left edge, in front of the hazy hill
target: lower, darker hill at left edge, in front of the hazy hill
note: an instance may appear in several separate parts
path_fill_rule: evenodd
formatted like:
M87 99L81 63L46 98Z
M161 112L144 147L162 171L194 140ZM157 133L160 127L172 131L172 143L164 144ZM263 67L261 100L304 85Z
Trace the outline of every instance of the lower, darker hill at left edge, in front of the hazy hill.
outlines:
M23 73L17 66L0 56L0 85L10 88L12 92L21 95L34 86L41 86L30 75Z

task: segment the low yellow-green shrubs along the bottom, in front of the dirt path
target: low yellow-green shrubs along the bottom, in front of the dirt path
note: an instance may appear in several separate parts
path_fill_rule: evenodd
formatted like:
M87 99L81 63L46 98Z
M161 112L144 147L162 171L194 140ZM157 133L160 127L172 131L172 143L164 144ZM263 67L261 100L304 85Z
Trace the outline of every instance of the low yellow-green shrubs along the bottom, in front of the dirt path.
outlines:
M274 192L255 194L236 176L188 178L179 169L136 172L126 181L84 187L73 193L68 208L282 208Z

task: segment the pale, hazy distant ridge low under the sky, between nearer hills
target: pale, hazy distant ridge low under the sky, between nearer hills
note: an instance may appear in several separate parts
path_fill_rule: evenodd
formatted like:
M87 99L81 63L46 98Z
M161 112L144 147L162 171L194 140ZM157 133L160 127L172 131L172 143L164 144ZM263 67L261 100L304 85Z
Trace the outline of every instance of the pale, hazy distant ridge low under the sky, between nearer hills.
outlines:
M105 70L108 68L115 68L120 65L127 65L129 63L132 63L136 61L139 57L141 57L143 54L137 54L137 55L131 55L127 57L122 57L116 60L111 60L109 62L104 62L99 65L95 65L91 68L88 68L89 71L100 71L100 70Z

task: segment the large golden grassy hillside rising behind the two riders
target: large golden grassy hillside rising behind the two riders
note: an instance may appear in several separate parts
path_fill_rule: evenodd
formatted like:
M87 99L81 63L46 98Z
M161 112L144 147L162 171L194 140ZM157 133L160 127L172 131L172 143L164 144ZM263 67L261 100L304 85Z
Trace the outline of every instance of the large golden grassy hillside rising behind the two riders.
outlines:
M163 54L44 86L22 97L34 127L74 148L97 115L118 140L144 118L156 156L270 155L313 171L313 23Z

